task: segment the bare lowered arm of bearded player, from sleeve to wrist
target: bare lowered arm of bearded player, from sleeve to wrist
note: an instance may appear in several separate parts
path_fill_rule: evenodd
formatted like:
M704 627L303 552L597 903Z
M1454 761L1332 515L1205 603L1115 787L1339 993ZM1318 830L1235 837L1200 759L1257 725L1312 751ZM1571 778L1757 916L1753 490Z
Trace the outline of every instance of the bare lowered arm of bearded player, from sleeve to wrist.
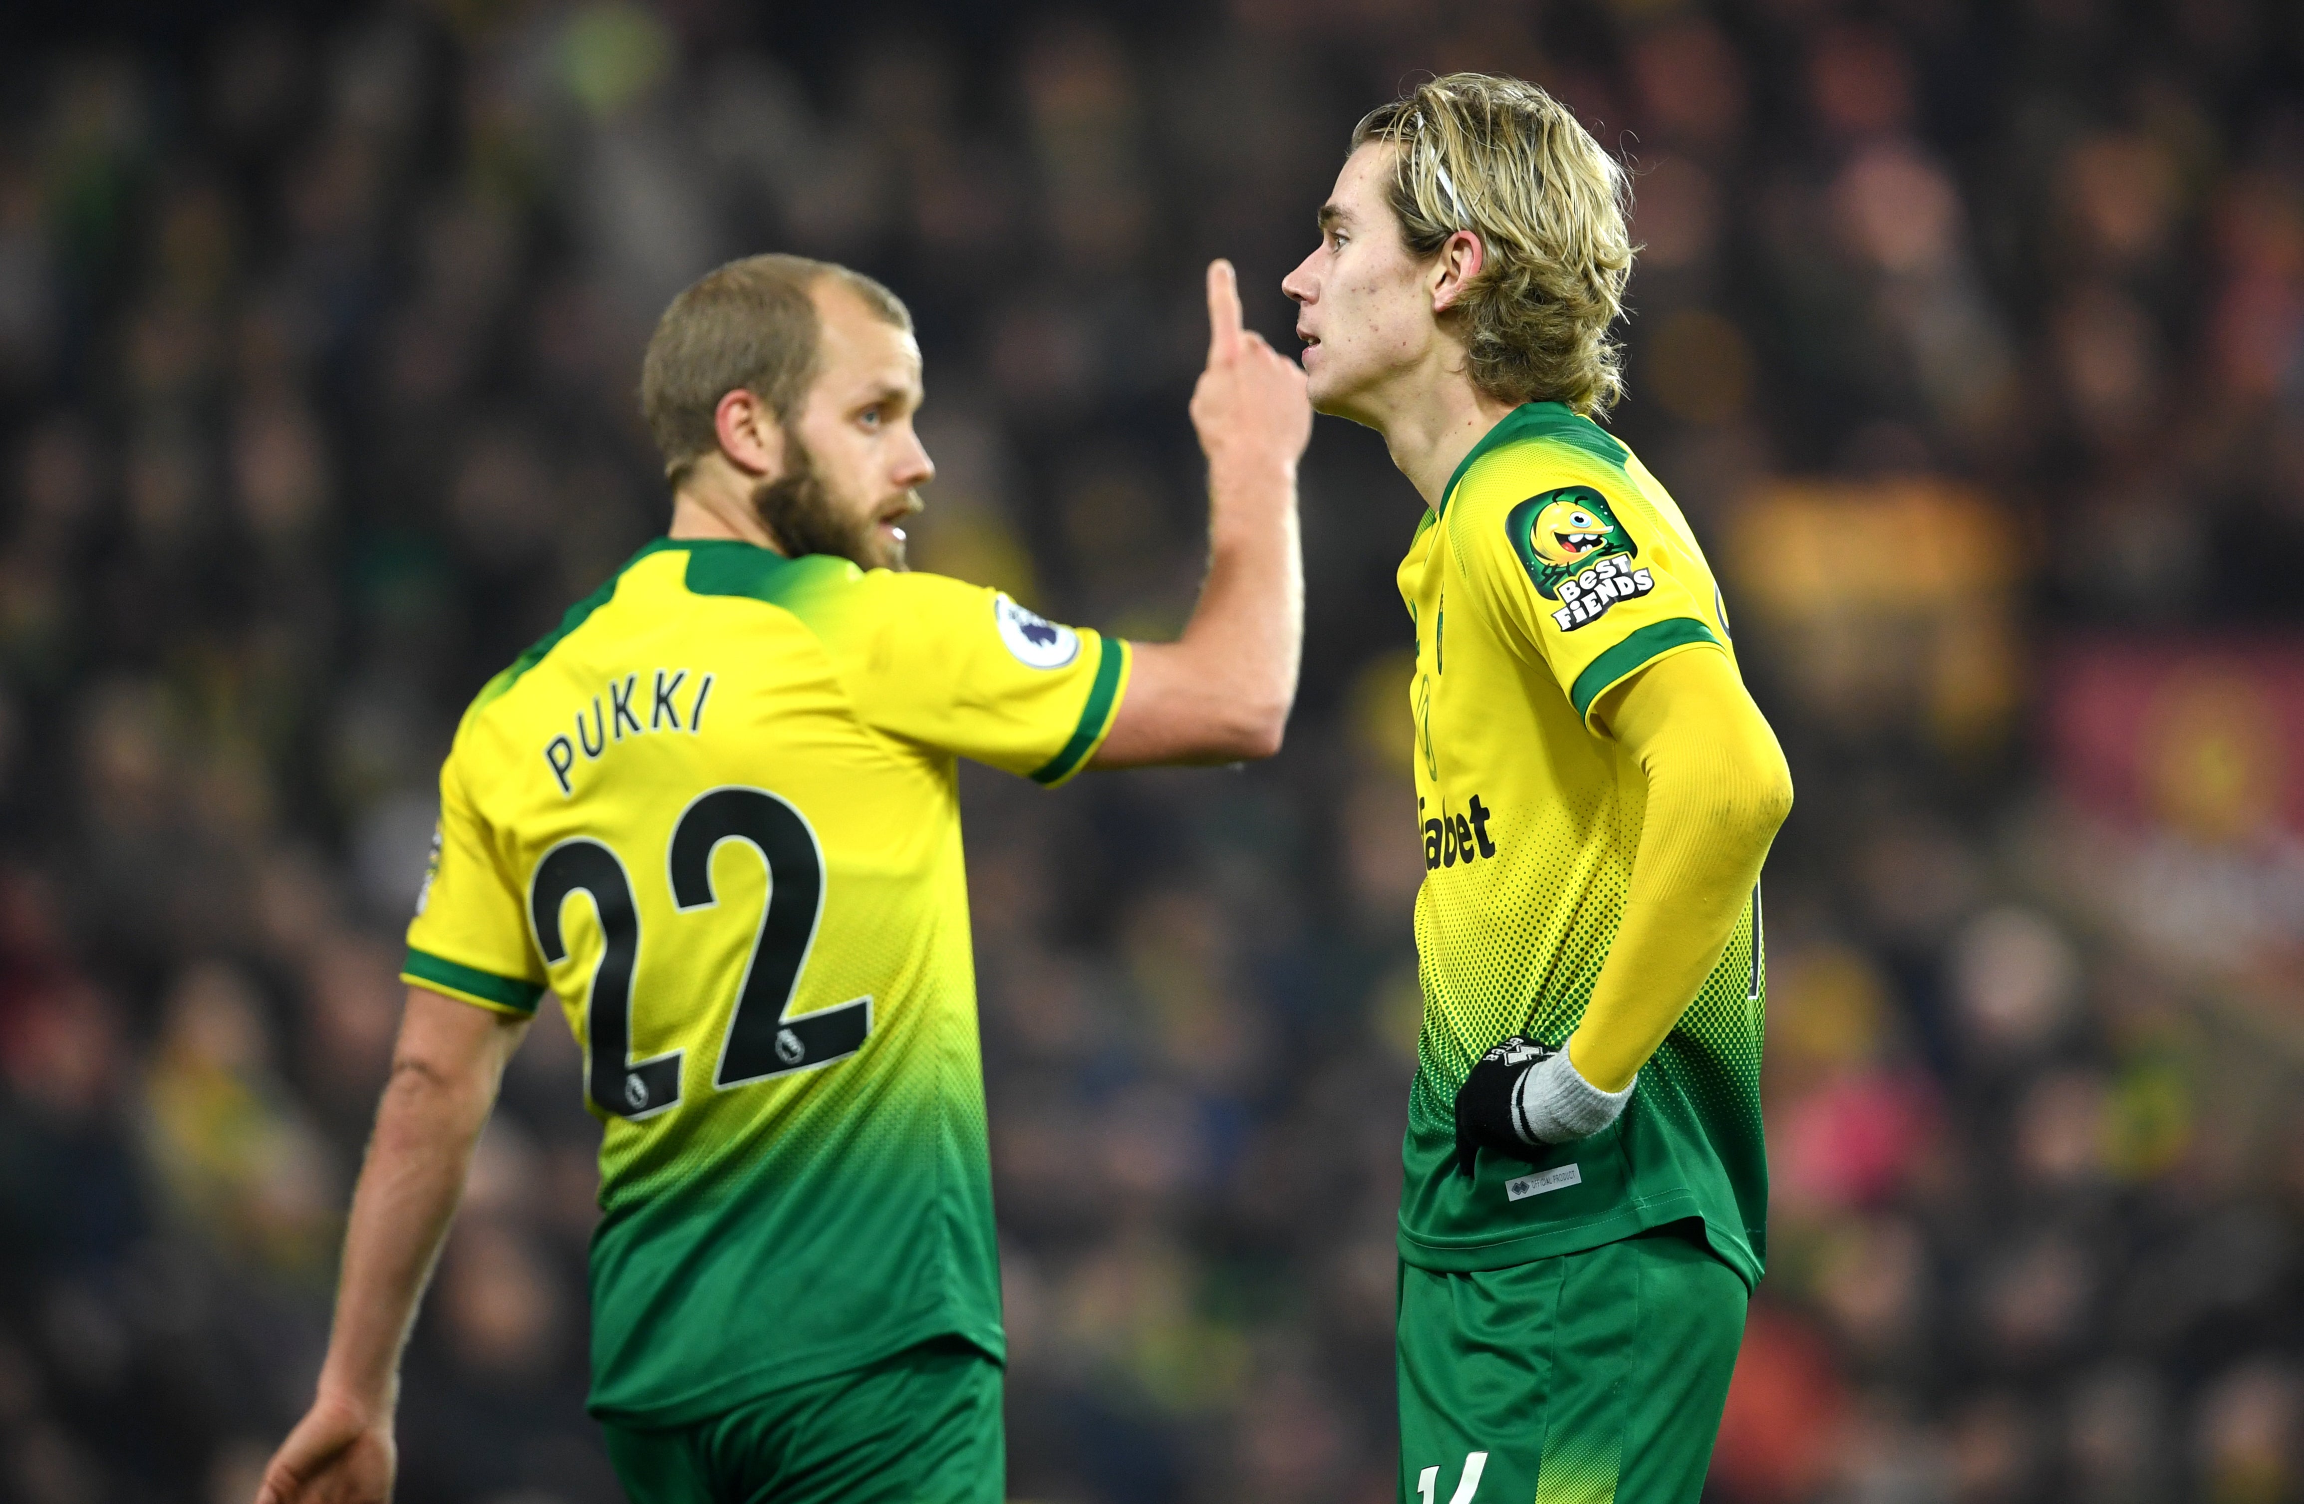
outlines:
M447 1016L456 1034L509 1032L468 1004L433 997L429 1007L470 1016ZM353 1191L320 1393L362 1414L385 1414L396 1400L401 1347L456 1216L472 1145L495 1106L509 1053L509 1039L486 1034L475 1034L482 1048L440 1048L440 1023L417 1018L410 1000Z

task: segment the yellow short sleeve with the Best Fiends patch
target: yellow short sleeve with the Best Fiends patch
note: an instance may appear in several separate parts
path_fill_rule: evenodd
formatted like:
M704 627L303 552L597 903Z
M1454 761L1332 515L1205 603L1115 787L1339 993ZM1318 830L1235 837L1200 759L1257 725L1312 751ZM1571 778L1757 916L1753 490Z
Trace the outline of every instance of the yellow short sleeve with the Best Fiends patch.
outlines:
M1558 472L1532 491L1511 468L1500 479L1456 497L1449 546L1475 608L1551 668L1578 716L1666 654L1721 647L1710 571L1645 507L1592 481L1546 484Z

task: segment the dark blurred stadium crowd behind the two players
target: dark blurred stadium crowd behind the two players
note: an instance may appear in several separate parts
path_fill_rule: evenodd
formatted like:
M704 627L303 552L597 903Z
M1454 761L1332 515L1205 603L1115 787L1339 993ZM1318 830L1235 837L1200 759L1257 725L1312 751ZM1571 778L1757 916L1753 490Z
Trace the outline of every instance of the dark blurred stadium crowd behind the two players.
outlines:
M2304 1499L2304 12L194 12L0 48L0 1497L244 1504L302 1407L431 778L661 525L673 290L889 281L915 562L1164 633L1200 265L1281 343L1352 120L1477 67L1638 168L1615 428L1799 785L1707 1497ZM1320 424L1274 762L965 781L1021 1499L1392 1497L1415 509ZM415 1504L617 1497L576 1071L548 1013Z

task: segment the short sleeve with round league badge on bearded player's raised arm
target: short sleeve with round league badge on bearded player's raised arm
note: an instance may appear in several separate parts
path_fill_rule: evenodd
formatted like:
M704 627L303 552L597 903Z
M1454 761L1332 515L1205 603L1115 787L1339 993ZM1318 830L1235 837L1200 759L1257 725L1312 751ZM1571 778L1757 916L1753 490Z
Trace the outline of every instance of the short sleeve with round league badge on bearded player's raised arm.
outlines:
M1127 696L1127 643L945 576L869 578L885 594L850 693L873 728L1051 788L1087 767Z

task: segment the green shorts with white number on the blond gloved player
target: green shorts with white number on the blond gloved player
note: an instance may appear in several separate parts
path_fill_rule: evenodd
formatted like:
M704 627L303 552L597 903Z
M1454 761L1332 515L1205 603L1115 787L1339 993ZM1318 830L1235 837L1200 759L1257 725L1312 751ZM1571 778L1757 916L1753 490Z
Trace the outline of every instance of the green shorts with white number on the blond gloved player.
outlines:
M1477 1274L1401 1264L1403 1504L1696 1504L1744 1299L1670 1230Z

